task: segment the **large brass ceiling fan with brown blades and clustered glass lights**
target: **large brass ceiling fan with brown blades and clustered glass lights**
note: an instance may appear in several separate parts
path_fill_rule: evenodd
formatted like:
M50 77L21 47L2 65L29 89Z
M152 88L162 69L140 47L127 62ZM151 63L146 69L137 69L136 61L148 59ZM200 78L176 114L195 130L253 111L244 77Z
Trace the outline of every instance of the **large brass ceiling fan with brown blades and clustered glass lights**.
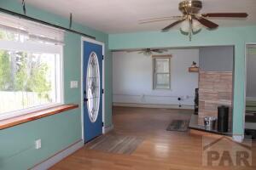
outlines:
M158 22L163 20L177 20L166 26L162 31L169 31L173 26L181 24L181 31L189 34L189 40L191 41L192 34L201 30L201 26L206 26L208 29L215 29L218 27L214 22L207 20L207 18L227 17L227 18L247 18L247 13L207 13L200 14L202 8L201 1L198 0L185 0L178 5L178 9L183 13L182 16L170 16L152 18L147 20L139 20L140 24L146 24L150 22Z

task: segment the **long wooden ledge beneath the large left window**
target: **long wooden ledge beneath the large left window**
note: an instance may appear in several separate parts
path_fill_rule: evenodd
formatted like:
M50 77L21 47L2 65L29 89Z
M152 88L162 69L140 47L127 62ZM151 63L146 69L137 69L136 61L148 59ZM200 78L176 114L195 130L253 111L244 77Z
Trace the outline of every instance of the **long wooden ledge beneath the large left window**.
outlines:
M37 119L41 119L46 116L55 115L63 111L73 110L78 107L79 105L76 105L76 104L59 105L59 106L51 107L49 109L45 109L42 111L34 111L32 113L27 113L26 115L15 116L9 119L4 119L0 121L0 130L8 127L14 127L16 125L20 125L25 122L31 122Z

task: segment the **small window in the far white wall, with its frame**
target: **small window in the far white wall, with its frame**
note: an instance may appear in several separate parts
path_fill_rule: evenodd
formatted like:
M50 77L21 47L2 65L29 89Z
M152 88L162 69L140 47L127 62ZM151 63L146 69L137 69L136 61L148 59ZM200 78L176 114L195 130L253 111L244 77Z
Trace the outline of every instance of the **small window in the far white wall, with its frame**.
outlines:
M171 88L171 55L153 56L154 89Z

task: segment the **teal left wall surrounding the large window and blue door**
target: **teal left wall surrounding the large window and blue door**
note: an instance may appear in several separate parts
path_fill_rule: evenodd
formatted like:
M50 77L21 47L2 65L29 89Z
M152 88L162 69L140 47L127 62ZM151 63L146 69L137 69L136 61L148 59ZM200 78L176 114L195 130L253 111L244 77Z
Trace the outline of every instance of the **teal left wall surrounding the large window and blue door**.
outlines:
M18 0L1 0L0 7L22 13L20 2ZM38 8L32 8L29 5L26 5L26 11L27 15L40 20L45 20L59 26L68 27L69 25L67 19ZM73 29L96 37L97 41L105 42L105 124L108 127L112 124L112 57L108 51L108 35L79 24L73 24ZM63 55L64 99L66 104L80 104L80 87L69 88L70 81L81 81L80 46L79 35L70 32L65 33ZM0 169L27 169L81 139L80 114L79 108L0 130ZM36 139L42 139L42 148L40 150L34 149L34 141Z

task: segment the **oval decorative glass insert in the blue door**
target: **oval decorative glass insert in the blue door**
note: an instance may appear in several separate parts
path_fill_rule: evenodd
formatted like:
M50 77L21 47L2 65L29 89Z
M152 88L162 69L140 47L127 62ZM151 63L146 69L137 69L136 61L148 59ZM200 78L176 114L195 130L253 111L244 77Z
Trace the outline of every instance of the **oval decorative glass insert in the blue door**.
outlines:
M96 53L92 52L87 65L87 109L90 122L96 122L100 106L100 68Z

